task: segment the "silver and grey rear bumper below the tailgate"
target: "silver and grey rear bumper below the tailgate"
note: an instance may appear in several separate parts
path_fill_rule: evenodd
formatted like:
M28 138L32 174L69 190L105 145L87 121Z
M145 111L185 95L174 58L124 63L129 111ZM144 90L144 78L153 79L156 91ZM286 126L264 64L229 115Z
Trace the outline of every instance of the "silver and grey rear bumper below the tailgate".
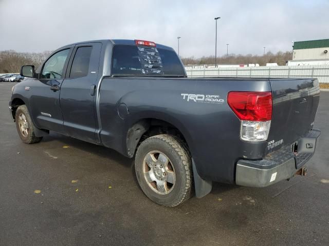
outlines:
M248 187L267 187L295 175L314 154L320 130L310 130L297 140L298 154L291 152L291 146L282 147L262 160L239 160L236 163L235 183ZM312 148L310 148L312 147Z

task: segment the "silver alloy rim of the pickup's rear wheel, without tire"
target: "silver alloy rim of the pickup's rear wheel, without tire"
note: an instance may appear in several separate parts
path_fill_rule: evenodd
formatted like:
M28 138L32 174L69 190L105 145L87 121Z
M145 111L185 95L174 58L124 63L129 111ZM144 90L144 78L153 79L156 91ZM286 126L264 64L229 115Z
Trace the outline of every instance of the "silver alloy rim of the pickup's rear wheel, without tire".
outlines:
M151 151L143 160L143 176L151 189L160 194L169 194L176 182L172 162L160 151Z

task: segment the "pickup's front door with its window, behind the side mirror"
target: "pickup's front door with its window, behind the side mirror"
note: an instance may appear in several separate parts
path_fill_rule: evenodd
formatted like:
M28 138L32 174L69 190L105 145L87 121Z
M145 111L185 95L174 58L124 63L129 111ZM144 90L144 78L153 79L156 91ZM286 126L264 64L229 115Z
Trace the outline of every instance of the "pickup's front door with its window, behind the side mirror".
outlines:
M72 47L68 47L51 55L42 66L39 78L33 79L28 88L31 91L31 115L40 129L63 132L60 87L71 50Z

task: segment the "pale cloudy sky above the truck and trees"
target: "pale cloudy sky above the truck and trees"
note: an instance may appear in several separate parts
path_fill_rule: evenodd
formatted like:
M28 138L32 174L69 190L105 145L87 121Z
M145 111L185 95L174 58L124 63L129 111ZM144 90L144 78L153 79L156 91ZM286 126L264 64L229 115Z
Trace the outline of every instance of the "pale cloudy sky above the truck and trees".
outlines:
M0 0L0 50L42 52L93 39L143 39L181 57L290 51L329 38L329 0Z

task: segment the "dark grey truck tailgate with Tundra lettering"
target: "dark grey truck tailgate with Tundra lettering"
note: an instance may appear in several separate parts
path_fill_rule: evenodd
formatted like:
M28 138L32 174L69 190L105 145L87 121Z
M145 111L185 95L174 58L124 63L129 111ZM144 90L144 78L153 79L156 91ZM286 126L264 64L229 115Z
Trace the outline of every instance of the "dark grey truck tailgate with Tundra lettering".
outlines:
M270 79L273 112L267 152L293 144L313 128L320 99L318 80Z

